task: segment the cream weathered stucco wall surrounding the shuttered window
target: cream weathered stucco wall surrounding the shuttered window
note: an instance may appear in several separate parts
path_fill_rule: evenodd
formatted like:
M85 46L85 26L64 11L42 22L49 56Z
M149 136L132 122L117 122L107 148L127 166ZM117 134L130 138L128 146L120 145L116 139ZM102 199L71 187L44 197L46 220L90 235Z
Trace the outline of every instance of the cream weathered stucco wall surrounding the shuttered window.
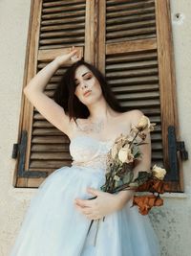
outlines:
M9 255L35 189L12 187L13 143L17 142L24 60L29 25L30 1L0 1L0 256ZM171 0L175 47L180 137L191 149L191 2ZM180 20L174 18L180 13ZM167 194L164 206L150 214L159 236L162 255L189 256L191 242L191 164L183 163L184 194Z

